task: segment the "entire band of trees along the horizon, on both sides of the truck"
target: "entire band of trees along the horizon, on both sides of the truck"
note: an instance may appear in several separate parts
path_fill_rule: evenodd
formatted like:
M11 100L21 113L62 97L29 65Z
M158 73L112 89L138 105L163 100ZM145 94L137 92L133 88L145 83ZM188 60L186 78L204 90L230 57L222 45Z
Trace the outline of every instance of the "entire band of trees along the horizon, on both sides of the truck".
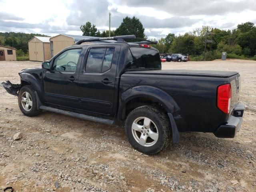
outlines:
M80 30L84 36L109 36L108 30L100 31L90 22L81 25ZM147 39L144 31L140 19L135 16L132 18L126 16L116 30L110 30L110 36L134 34L137 38ZM28 54L28 41L34 36L45 35L0 32L0 44L16 48L17 55L23 56ZM252 58L256 60L256 26L252 22L238 24L232 30L202 26L183 35L177 36L170 33L166 37L160 38L158 44L152 46L157 48L161 54L189 54L192 60L218 59L221 58L222 52L227 52L228 58Z

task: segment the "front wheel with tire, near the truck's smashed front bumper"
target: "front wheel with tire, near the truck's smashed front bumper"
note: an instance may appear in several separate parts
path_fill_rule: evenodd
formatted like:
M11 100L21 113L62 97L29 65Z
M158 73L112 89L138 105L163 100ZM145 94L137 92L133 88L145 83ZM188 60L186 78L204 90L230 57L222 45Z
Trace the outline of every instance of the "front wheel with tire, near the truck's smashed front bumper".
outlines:
M37 109L36 94L32 86L23 86L18 94L18 103L21 112L29 117L37 116L41 110Z

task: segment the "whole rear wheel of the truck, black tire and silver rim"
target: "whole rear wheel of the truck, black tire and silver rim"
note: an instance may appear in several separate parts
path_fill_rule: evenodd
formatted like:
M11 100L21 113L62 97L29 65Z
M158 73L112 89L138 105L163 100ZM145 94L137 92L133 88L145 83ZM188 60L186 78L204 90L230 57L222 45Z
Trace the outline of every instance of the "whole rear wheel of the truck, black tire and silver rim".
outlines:
M160 153L170 141L171 126L168 117L152 106L132 110L126 118L125 130L132 147L148 155Z

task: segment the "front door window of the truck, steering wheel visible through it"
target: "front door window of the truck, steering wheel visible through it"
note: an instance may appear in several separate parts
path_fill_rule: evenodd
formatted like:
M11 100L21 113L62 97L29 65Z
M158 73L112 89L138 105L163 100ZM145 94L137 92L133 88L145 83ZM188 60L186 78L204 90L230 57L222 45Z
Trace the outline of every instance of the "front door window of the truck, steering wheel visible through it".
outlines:
M71 49L54 59L52 70L75 72L82 49Z

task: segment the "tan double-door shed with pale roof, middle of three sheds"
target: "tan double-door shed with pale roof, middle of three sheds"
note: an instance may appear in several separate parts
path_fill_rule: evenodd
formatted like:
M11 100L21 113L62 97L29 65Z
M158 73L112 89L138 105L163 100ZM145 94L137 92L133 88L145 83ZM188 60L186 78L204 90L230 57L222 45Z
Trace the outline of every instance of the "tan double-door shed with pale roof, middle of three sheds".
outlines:
M28 41L30 61L47 61L52 58L49 39L50 37L34 36Z

